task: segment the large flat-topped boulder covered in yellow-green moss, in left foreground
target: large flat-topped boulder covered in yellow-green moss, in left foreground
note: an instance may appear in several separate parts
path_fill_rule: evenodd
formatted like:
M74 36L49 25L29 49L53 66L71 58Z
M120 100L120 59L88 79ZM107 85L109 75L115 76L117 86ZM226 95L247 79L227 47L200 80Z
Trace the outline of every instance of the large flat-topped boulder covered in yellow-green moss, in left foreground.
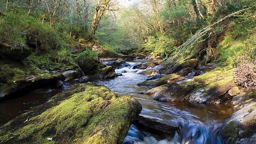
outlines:
M123 143L141 105L105 86L82 84L0 127L2 143Z

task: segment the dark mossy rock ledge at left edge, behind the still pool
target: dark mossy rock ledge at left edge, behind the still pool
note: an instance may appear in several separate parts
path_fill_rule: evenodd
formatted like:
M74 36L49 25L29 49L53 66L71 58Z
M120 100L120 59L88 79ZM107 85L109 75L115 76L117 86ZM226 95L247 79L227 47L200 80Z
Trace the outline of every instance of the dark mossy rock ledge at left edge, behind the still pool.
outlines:
M57 71L42 70L17 61L0 60L0 66L0 99L38 87L55 86L58 81L65 80Z

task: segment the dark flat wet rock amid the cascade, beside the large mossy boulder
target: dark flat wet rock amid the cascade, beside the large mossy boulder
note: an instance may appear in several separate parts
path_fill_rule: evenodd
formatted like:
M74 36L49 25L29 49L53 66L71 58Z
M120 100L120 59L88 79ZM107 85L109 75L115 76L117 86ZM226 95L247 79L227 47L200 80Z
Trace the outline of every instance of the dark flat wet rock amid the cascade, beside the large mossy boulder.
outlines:
M153 129L156 131L161 131L163 133L169 134L173 134L180 127L178 123L165 121L162 118L143 114L140 114L137 117L137 121L139 124L143 125L144 127L147 127L147 129Z

